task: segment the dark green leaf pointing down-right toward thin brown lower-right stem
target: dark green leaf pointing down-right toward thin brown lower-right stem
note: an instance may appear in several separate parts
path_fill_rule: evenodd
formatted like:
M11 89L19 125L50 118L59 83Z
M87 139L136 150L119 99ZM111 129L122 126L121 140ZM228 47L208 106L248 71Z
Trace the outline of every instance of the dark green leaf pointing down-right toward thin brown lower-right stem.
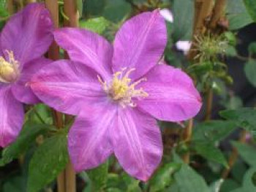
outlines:
M227 161L225 156L222 154L222 151L219 148L215 147L211 142L193 142L193 148L197 152L197 154L203 156L204 158L214 161L218 164L222 164L227 167Z

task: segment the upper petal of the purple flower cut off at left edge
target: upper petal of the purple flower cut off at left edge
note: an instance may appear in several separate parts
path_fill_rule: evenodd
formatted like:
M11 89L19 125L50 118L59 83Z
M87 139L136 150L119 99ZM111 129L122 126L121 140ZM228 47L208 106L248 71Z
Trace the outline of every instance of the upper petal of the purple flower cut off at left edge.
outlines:
M53 23L44 4L34 3L12 16L1 32L2 50L12 50L20 64L41 57L53 42Z

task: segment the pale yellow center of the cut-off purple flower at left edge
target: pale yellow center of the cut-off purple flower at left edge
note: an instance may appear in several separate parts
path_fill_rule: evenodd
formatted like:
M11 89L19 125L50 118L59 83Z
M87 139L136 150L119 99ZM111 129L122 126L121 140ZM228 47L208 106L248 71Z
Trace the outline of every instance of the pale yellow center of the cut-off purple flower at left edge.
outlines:
M6 52L7 60L0 57L0 82L14 82L19 75L18 61L15 60L12 51Z

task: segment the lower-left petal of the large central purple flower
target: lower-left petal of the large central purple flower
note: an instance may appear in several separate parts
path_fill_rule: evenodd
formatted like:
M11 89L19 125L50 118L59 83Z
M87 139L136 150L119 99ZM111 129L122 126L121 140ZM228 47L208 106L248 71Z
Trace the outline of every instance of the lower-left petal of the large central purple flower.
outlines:
M102 164L113 153L110 130L116 112L116 106L108 103L78 115L68 136L69 155L77 172Z

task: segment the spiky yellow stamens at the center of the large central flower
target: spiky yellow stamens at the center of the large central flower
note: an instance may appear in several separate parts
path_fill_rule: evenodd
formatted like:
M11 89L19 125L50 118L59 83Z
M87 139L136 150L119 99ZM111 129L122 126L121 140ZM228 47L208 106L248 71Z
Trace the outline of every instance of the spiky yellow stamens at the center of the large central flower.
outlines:
M132 101L132 98L142 99L148 96L148 93L143 91L143 88L135 88L140 82L146 81L146 78L142 78L136 82L132 82L132 79L129 78L129 74L134 70L135 69L127 70L127 68L121 69L120 72L113 74L113 79L110 83L103 81L98 76L103 90L108 93L108 96L110 96L113 101L118 101L122 107L126 107L127 105L135 107L136 104Z

